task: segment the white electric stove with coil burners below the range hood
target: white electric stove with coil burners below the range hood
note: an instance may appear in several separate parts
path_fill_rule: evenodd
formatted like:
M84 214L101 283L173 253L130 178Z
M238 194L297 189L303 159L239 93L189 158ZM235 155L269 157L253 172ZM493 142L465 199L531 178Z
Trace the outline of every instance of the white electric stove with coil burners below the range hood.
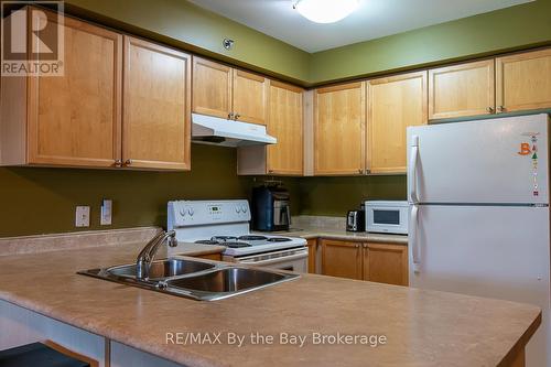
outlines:
M298 237L251 234L246 199L169 202L168 229L181 242L225 246L225 261L307 271L306 240ZM169 255L179 247L169 247Z

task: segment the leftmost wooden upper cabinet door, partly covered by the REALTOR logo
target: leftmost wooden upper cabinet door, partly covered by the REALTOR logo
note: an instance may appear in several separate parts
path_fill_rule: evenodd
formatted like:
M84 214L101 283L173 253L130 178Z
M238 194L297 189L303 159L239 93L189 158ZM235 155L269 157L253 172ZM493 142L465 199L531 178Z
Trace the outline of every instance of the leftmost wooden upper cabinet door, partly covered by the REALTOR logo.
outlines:
M29 163L112 166L120 159L122 36L71 18L64 32L65 75L29 80Z

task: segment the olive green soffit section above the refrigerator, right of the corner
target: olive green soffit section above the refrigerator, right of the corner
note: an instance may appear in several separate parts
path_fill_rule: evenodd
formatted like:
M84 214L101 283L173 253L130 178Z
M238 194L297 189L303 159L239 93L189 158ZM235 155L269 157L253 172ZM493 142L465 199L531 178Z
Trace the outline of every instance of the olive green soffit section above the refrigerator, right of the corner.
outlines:
M537 0L314 53L310 79L322 83L388 73L550 42L551 0Z

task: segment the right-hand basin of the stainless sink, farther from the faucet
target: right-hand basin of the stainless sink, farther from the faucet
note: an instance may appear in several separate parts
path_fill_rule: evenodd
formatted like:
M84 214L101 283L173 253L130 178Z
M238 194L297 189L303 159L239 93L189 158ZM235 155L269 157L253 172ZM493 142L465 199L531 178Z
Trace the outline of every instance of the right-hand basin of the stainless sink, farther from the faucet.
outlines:
M201 276L169 280L169 287L199 292L239 292L260 288L285 279L285 274L248 268L226 268Z

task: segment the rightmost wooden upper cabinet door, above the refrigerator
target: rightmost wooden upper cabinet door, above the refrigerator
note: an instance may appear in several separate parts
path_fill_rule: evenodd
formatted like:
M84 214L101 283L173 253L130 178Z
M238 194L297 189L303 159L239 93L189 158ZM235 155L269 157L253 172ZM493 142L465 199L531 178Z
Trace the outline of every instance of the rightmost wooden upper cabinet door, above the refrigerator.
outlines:
M498 112L551 108L551 48L496 58Z

